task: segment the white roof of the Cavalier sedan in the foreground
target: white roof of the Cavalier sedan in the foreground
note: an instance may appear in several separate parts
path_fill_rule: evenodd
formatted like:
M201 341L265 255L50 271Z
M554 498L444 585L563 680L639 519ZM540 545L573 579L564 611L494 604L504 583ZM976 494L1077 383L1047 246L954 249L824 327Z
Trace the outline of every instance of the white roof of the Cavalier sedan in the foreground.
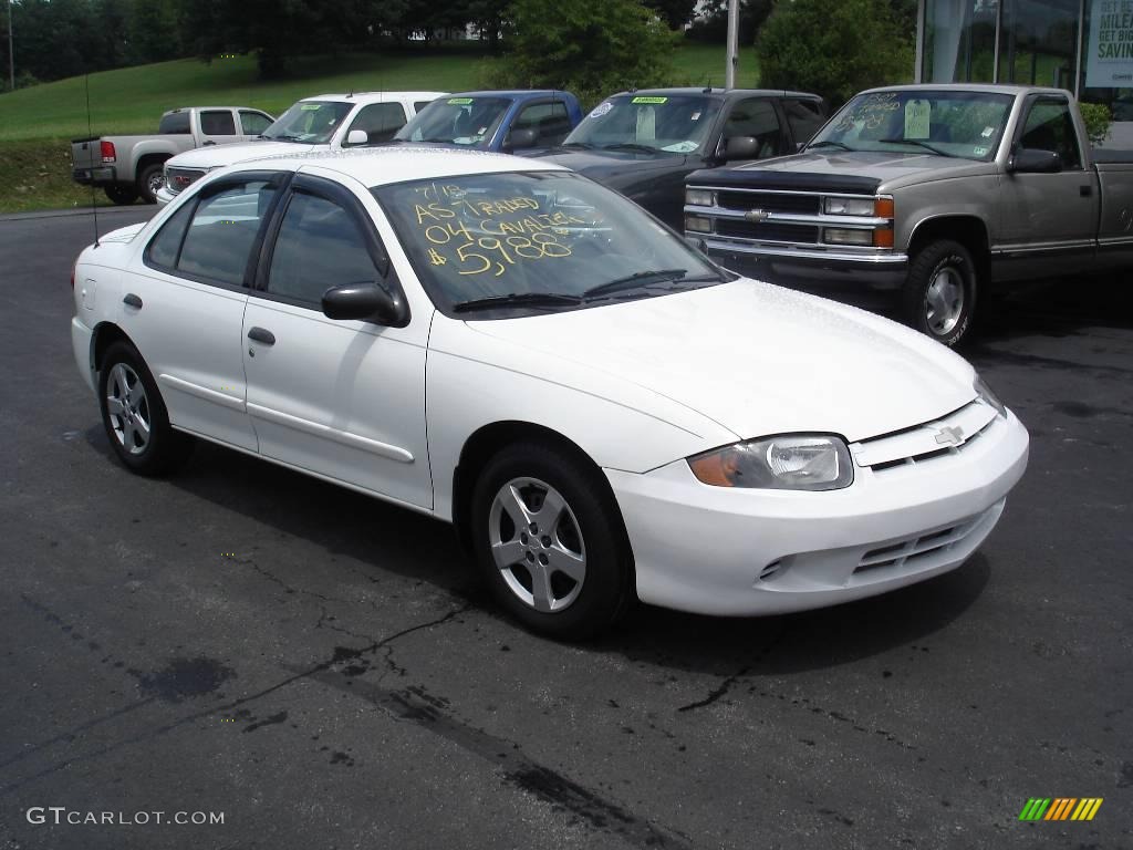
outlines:
M263 156L224 169L235 171L299 171L305 165L338 171L375 187L407 180L487 175L497 171L566 171L543 160L510 156L485 151L461 151L404 144L389 147L359 147L347 151L310 151Z

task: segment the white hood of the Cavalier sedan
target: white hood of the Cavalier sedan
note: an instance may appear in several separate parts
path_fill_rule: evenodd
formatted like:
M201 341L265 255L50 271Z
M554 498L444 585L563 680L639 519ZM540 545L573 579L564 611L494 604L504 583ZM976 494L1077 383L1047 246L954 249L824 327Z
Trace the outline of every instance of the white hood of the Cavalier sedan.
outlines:
M469 326L636 384L742 439L829 432L854 442L976 397L972 367L927 337L749 279ZM577 389L588 390L583 379Z

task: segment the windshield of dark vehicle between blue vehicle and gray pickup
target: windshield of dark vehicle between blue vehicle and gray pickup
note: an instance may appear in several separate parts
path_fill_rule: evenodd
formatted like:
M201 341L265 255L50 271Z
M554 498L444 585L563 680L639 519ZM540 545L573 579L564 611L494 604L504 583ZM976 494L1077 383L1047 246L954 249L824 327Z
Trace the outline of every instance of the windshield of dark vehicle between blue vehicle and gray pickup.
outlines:
M699 94L620 94L595 107L563 145L696 153L717 112L719 101Z

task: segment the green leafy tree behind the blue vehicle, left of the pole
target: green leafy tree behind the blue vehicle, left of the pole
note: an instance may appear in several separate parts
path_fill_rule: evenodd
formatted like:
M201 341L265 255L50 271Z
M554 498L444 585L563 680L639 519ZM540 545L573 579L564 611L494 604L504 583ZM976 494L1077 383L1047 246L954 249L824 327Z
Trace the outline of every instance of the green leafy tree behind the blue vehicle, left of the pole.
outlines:
M496 86L570 88L593 102L661 84L673 34L638 0L516 0Z

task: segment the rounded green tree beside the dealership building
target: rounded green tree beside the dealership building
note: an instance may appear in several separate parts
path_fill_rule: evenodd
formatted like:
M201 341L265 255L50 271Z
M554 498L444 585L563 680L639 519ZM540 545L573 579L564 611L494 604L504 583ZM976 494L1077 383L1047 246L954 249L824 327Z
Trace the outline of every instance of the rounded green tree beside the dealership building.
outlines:
M891 0L781 1L756 42L759 84L838 107L862 88L911 79L911 35Z

